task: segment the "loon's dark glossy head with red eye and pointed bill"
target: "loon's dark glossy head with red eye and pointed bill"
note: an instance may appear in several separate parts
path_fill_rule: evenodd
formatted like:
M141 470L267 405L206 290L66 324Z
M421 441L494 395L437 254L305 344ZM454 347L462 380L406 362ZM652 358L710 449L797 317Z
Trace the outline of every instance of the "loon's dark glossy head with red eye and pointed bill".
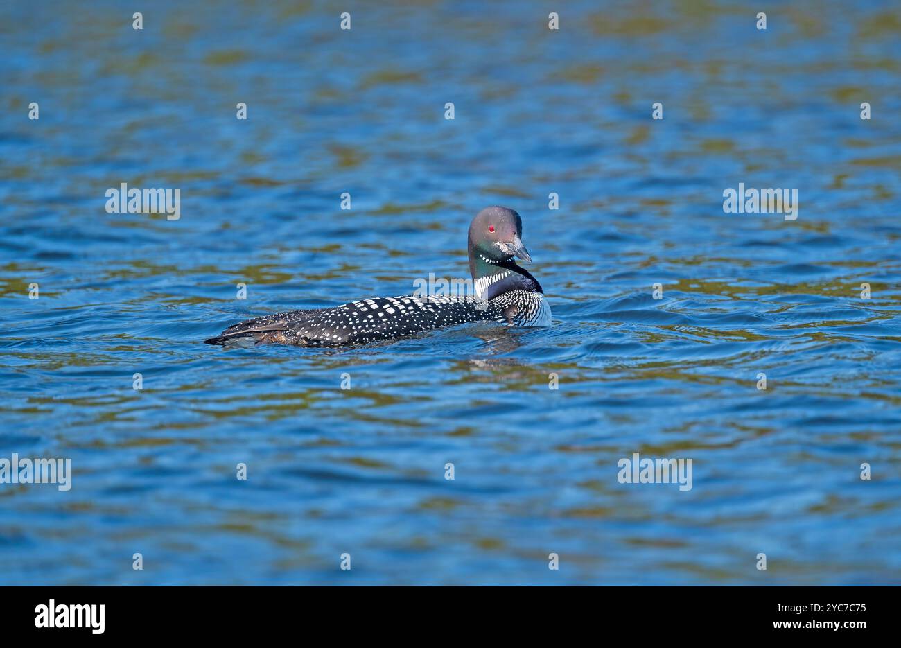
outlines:
M542 292L538 281L516 265L514 257L532 261L522 241L523 219L506 207L486 207L469 224L469 272L473 279L520 275ZM521 288L522 289L522 288Z

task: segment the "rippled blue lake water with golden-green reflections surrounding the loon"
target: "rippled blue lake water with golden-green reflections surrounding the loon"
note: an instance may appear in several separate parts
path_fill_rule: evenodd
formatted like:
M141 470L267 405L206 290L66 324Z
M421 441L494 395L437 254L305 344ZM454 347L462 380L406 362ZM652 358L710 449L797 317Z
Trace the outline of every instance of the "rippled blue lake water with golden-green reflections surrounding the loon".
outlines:
M0 484L0 582L901 583L897 5L350 5L0 6L0 458L73 470ZM467 277L486 205L550 328L202 343Z

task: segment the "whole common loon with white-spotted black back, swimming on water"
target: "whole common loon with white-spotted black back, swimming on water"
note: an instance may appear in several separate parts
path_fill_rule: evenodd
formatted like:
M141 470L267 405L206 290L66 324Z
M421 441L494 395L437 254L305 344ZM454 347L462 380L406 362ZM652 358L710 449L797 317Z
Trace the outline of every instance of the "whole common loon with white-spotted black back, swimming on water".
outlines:
M551 307L541 285L514 260L532 260L522 236L523 219L512 209L487 207L476 214L469 224L468 246L475 297L374 297L333 308L287 311L234 324L205 342L336 347L467 322L548 326Z

